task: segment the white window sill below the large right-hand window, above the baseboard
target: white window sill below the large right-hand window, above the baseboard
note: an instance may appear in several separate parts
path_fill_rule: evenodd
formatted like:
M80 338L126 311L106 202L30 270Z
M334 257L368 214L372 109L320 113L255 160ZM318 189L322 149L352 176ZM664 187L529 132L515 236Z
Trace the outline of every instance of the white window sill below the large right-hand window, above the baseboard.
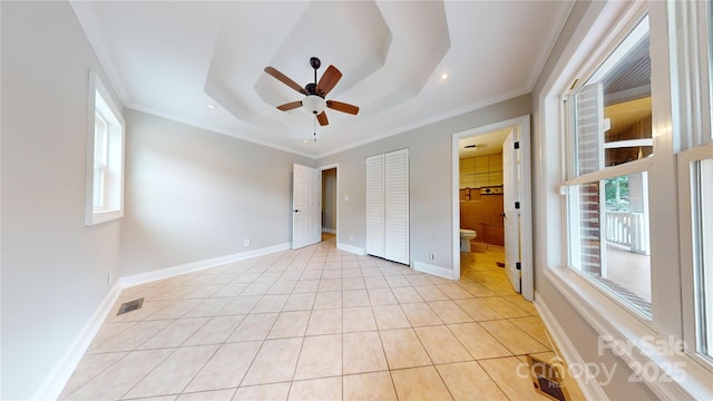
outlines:
M674 349L680 342L661 338L632 312L568 268L546 268L545 276L599 334L602 352L617 355L633 371L629 380L645 383L662 399L710 399L711 373ZM606 315L602 311L606 311Z

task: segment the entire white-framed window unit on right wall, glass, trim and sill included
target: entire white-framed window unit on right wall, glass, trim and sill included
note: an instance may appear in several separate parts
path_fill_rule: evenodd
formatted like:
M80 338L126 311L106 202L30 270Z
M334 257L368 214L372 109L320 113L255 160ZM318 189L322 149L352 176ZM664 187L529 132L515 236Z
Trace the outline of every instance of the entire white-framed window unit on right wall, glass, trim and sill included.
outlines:
M711 2L598 4L587 9L593 22L580 26L587 32L567 42L561 66L536 97L540 151L547 154L540 163L543 217L536 227L544 238L543 275L599 334L600 344L626 346L611 352L616 362L609 368L628 365L635 373L627 380L645 383L653 397L709 399L713 267L704 247L713 229L705 162L713 159ZM642 77L644 69L634 60L646 41L649 85L612 90L617 74L625 80ZM649 117L636 118L637 135L615 136L617 107L635 104L641 107L632 108ZM629 213L641 213L639 223L622 223L622 214ZM615 229L619 224L644 229L625 235ZM631 241L628 250L621 250L622 238ZM639 245L647 250L636 251ZM646 301L627 286L634 274L613 276L614 251L646 261L649 311L628 294ZM641 285L643 280L634 281Z

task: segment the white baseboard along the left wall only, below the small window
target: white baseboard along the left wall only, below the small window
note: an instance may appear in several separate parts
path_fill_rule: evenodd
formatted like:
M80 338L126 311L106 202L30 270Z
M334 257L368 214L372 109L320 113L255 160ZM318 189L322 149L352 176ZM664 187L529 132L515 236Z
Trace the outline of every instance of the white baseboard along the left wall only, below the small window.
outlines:
M104 324L106 316L111 312L111 307L114 307L120 293L121 285L119 282L116 282L99 304L99 307L91 314L89 321L81 329L79 335L77 335L65 355L55 365L37 393L35 393L32 400L59 399L69 378L71 378L71 374L77 369L87 349L89 349L95 335L97 335L99 329L101 329L101 324Z

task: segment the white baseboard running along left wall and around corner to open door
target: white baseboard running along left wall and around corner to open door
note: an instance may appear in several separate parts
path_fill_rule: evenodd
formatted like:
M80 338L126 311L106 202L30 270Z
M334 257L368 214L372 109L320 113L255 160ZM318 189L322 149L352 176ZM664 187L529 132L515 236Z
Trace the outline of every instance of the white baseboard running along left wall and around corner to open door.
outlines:
M286 250L290 250L291 247L292 246L289 243L280 244L280 245L268 246L260 250L241 252L233 255L219 256L219 257L214 257L205 261L186 263L179 266L162 268L154 272L147 272L147 273L121 277L119 281L116 282L116 284L111 287L111 290L109 290L107 295L104 297L104 300L99 304L99 307L97 307L97 310L94 312L91 317L89 317L89 321L87 322L87 324L85 324L82 330L79 332L79 334L72 342L69 350L67 350L62 359L57 363L57 365L55 365L55 369L49 374L47 380L45 380L45 383L42 383L42 385L40 387L40 389L37 391L37 393L32 399L33 400L57 400L59 398L62 389L65 389L65 385L67 385L69 378L71 378L71 374L77 369L79 361L81 361L81 358L87 352L87 349L89 349L89 345L91 344L91 341L94 340L95 335L97 335L97 332L101 327L101 324L104 324L104 321L106 320L107 315L111 312L111 307L118 300L119 294L121 293L121 290L134 286L134 285L149 283L156 280L164 280L164 278L173 277L179 274L215 267L226 263L243 261L250 257L262 256L262 255L266 255L266 254L271 254L280 251L286 251Z

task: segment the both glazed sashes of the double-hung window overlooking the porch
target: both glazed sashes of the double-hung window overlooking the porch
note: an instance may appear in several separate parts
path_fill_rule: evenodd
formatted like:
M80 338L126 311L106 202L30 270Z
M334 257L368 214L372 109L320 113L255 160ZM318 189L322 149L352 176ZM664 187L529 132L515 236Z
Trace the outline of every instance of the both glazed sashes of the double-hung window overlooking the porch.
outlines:
M645 317L652 315L648 18L568 96L568 263Z

